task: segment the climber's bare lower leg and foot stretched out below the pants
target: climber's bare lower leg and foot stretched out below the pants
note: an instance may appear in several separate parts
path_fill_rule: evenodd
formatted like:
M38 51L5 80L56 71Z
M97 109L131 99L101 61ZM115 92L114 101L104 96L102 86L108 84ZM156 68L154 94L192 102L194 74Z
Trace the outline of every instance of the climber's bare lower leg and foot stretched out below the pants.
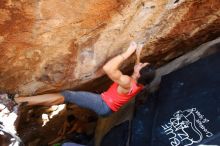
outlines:
M43 105L43 106L52 106L64 103L64 97L59 93L54 94L44 94L37 96L29 97L17 97L15 98L16 103L25 103L27 105Z

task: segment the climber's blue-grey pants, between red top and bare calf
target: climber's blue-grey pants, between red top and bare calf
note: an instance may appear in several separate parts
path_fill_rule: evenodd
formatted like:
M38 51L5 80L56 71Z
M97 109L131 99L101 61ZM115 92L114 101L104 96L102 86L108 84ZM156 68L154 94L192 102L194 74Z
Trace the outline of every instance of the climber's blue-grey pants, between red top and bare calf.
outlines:
M93 110L100 116L109 115L112 111L102 100L99 94L83 91L64 91L65 103L75 103L76 105Z

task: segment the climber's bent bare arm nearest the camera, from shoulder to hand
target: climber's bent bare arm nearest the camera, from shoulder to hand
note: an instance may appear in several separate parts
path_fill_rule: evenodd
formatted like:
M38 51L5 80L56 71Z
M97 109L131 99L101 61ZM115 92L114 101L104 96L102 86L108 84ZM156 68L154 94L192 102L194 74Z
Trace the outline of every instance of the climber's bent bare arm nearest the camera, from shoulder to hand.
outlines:
M119 70L119 67L123 61L125 61L135 52L136 48L137 44L135 42L131 42L130 46L124 53L112 58L103 66L103 70L108 77L114 82L118 83L124 89L130 88L131 77L122 74L122 72Z

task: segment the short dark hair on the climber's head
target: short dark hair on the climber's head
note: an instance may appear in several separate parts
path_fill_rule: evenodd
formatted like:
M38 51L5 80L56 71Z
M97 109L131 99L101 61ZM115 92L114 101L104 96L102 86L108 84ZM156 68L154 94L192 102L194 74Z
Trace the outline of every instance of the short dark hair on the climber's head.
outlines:
M155 67L151 64L143 67L139 73L140 77L138 78L137 83L144 86L150 84L156 75Z

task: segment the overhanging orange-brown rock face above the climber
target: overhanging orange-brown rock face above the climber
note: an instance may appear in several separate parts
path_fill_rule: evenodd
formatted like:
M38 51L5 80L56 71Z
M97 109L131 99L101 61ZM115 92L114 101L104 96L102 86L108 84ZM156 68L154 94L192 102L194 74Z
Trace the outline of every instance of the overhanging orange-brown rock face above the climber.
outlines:
M131 40L162 65L219 35L219 0L1 0L0 91L79 87Z

